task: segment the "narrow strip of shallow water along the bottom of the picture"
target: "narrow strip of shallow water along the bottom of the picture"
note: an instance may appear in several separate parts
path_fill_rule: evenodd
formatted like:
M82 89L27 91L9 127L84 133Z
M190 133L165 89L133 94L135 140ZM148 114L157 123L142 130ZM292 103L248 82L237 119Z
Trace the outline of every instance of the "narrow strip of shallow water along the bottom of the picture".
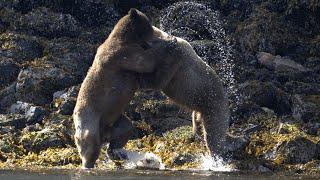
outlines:
M0 170L1 180L91 180L91 179L319 179L319 177L270 173L209 172L209 171L81 171L81 170Z

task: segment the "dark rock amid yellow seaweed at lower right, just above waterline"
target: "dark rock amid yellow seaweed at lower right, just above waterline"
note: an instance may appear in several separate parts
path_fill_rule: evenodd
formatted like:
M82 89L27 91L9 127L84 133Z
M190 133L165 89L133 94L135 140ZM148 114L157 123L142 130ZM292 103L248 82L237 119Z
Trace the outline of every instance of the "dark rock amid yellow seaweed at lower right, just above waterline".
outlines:
M317 144L304 137L284 142L277 149L278 153L285 156L284 161L290 164L306 163L318 157Z

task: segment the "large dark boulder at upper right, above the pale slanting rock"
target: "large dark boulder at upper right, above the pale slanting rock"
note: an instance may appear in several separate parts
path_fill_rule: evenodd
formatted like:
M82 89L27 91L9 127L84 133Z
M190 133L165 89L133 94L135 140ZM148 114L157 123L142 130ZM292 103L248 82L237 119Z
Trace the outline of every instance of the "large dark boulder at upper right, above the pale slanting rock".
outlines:
M296 43L298 37L292 29L284 17L258 6L237 25L235 36L242 52L279 54L279 50Z

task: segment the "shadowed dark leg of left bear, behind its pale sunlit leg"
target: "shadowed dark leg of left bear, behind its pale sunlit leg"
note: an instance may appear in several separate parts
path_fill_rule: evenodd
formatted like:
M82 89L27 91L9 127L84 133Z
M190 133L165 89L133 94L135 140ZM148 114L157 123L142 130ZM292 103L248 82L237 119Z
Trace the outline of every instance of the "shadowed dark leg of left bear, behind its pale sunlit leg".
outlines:
M111 140L107 154L111 160L128 159L123 147L127 144L132 135L133 125L125 115L121 115L118 121L111 128Z

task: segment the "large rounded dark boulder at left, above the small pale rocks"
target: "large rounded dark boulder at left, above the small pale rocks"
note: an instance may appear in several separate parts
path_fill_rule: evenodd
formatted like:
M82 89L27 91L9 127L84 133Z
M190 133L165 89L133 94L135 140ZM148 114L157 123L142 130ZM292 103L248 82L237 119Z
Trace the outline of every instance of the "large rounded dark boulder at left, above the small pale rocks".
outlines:
M54 92L74 83L65 71L55 67L29 67L19 73L16 93L20 101L49 104Z

